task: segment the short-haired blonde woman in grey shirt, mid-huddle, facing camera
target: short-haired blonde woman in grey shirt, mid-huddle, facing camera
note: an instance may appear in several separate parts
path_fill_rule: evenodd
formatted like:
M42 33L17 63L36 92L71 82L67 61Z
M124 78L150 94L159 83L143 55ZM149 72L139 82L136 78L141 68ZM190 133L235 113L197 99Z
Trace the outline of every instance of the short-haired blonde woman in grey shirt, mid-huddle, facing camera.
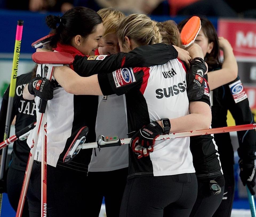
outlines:
M104 8L97 13L103 21L103 45L95 50L95 55L119 53L117 30L125 15L113 8ZM110 123L111 127L109 127ZM99 96L95 131L97 136L118 135L120 138L127 138L124 95ZM119 216L127 175L128 146L102 148L100 151L96 149L93 152L88 180L91 185L96 185L97 188L93 188L90 196L89 205L94 211L91 213L91 217L99 216L103 196L107 216ZM113 180L115 181L113 182Z

